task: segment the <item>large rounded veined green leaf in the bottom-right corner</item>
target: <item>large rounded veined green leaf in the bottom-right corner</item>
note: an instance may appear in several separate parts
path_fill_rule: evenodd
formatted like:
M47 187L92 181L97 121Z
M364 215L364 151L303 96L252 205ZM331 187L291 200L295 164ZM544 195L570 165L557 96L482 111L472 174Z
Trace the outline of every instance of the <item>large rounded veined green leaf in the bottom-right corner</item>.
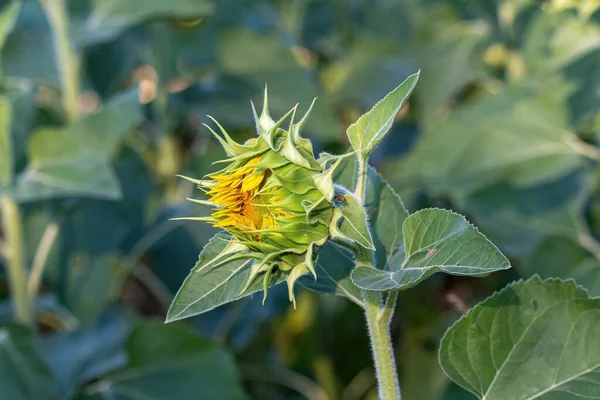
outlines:
M473 308L442 340L448 376L481 399L598 399L600 299L534 276Z

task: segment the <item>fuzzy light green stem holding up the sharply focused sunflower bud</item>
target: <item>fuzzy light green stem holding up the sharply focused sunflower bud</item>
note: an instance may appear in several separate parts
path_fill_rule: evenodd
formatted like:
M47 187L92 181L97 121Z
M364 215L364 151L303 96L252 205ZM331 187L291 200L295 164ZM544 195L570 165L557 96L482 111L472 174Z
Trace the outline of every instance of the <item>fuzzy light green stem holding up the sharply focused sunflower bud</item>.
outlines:
M367 159L359 156L358 158L358 179L356 182L356 197L364 203L367 188ZM369 265L373 262L365 257L357 257L358 265ZM372 260L371 254L371 260ZM387 301L383 302L381 294L363 290L363 302L365 305L365 317L371 339L371 348L373 349L373 360L375 362L375 372L379 389L379 398L381 400L400 400L400 384L398 374L396 373L396 361L394 359L394 349L390 336L390 321L396 306L397 292L390 292Z

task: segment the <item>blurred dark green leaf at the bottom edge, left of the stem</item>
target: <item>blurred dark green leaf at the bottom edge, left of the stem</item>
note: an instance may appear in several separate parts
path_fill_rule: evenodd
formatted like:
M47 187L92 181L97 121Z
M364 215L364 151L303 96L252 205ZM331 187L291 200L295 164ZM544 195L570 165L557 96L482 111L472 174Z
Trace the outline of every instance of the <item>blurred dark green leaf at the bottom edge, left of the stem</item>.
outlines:
M147 322L130 337L130 365L87 391L87 400L243 400L231 355L184 325Z

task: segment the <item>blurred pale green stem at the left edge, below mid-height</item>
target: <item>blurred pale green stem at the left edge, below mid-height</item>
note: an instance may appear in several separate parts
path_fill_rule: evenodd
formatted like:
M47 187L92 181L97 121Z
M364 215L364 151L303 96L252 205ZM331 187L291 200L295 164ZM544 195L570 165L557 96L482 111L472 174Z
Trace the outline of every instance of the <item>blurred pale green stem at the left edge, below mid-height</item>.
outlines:
M23 262L23 228L19 205L10 197L2 197L2 222L6 235L6 267L17 321L33 326L33 308L27 293L27 271Z

